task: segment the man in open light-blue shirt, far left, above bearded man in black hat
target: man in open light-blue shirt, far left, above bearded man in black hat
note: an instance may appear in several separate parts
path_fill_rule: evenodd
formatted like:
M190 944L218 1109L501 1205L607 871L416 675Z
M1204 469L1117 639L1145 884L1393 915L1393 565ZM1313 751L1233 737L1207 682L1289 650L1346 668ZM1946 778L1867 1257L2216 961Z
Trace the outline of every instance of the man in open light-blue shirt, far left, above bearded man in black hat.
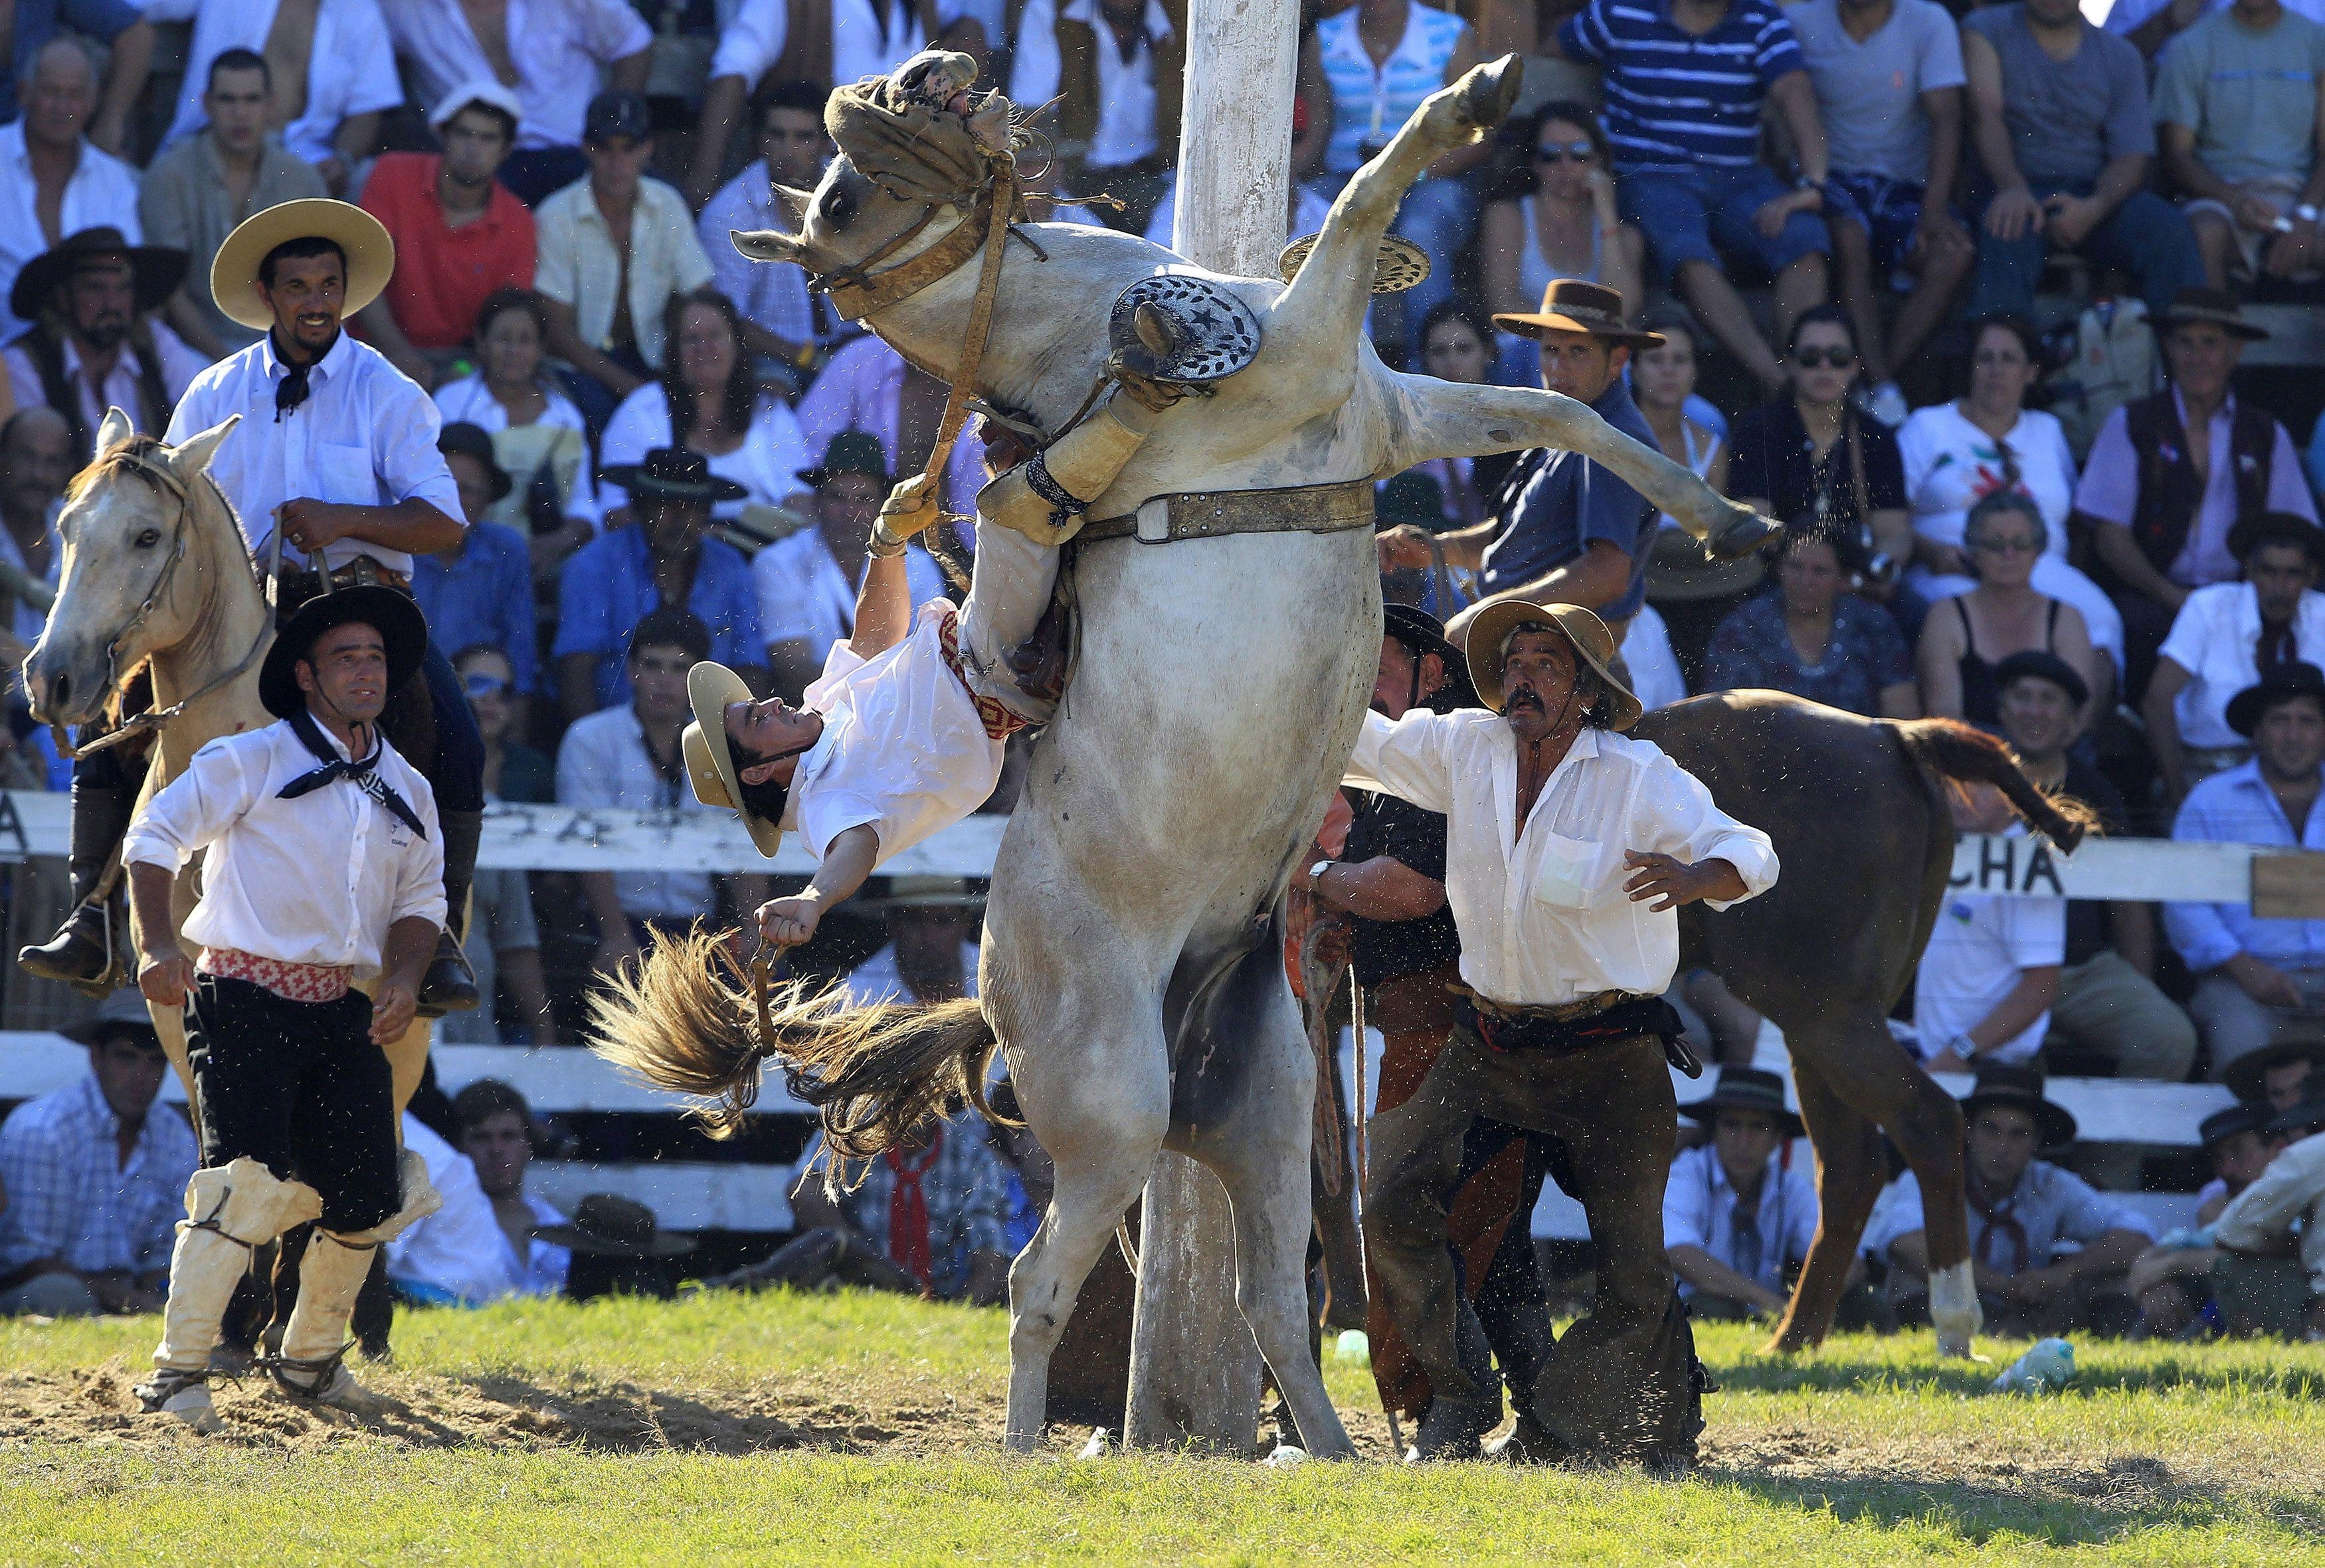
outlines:
M137 225L137 170L91 146L81 135L98 107L98 70L70 37L33 56L23 74L23 118L0 125L0 290L16 288L16 272L65 235L88 228L121 230L130 244ZM0 339L23 332L14 309Z

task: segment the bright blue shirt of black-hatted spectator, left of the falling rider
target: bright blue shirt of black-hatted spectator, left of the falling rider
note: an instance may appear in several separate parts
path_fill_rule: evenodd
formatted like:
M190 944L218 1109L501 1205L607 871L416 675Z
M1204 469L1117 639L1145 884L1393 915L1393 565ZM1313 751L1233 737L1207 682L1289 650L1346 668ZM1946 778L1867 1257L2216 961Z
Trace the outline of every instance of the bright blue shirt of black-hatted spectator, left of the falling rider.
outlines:
M616 527L602 539L574 551L558 576L556 657L567 653L598 655L598 706L630 702L630 632L660 609L653 567L646 560L646 530ZM751 562L730 544L702 541L695 562L695 585L686 609L711 632L711 657L728 667L765 664L767 639L758 630L758 588Z

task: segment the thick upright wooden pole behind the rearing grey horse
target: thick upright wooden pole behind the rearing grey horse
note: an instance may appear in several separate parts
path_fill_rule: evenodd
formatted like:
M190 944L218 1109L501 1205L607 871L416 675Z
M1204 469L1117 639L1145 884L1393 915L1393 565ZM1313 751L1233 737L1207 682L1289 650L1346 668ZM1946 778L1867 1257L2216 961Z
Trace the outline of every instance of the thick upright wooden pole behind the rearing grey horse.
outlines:
M1190 262L1274 274L1290 221L1297 70L1297 0L1188 7L1172 249ZM1146 1182L1139 1238L1125 1443L1249 1456L1260 1424L1260 1350L1235 1306L1228 1192L1193 1159L1162 1155Z

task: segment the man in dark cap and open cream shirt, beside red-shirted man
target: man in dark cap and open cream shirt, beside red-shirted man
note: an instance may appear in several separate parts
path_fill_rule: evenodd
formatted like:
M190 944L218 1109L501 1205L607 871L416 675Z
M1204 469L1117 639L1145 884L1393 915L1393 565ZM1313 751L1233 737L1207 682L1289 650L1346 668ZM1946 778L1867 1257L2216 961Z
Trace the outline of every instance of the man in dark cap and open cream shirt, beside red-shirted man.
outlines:
M600 2L600 0L593 0ZM686 197L646 177L653 116L639 93L588 107L588 179L539 207L535 286L549 300L549 353L593 427L663 369L667 304L711 281Z

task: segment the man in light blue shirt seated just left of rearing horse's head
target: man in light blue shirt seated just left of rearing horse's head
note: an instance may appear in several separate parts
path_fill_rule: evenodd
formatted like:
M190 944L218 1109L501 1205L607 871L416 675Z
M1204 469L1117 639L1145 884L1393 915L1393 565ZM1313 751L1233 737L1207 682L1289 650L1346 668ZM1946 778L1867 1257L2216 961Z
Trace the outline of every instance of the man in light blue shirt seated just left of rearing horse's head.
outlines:
M735 249L735 230L791 230L800 214L779 188L814 190L823 179L830 137L823 135L828 93L807 81L777 81L758 95L758 158L702 207L695 230L711 260L711 288L742 311L742 337L760 374L779 369L793 388L816 372L839 321L823 295L807 293L807 272L788 262L756 262ZM698 149L700 151L700 149Z

